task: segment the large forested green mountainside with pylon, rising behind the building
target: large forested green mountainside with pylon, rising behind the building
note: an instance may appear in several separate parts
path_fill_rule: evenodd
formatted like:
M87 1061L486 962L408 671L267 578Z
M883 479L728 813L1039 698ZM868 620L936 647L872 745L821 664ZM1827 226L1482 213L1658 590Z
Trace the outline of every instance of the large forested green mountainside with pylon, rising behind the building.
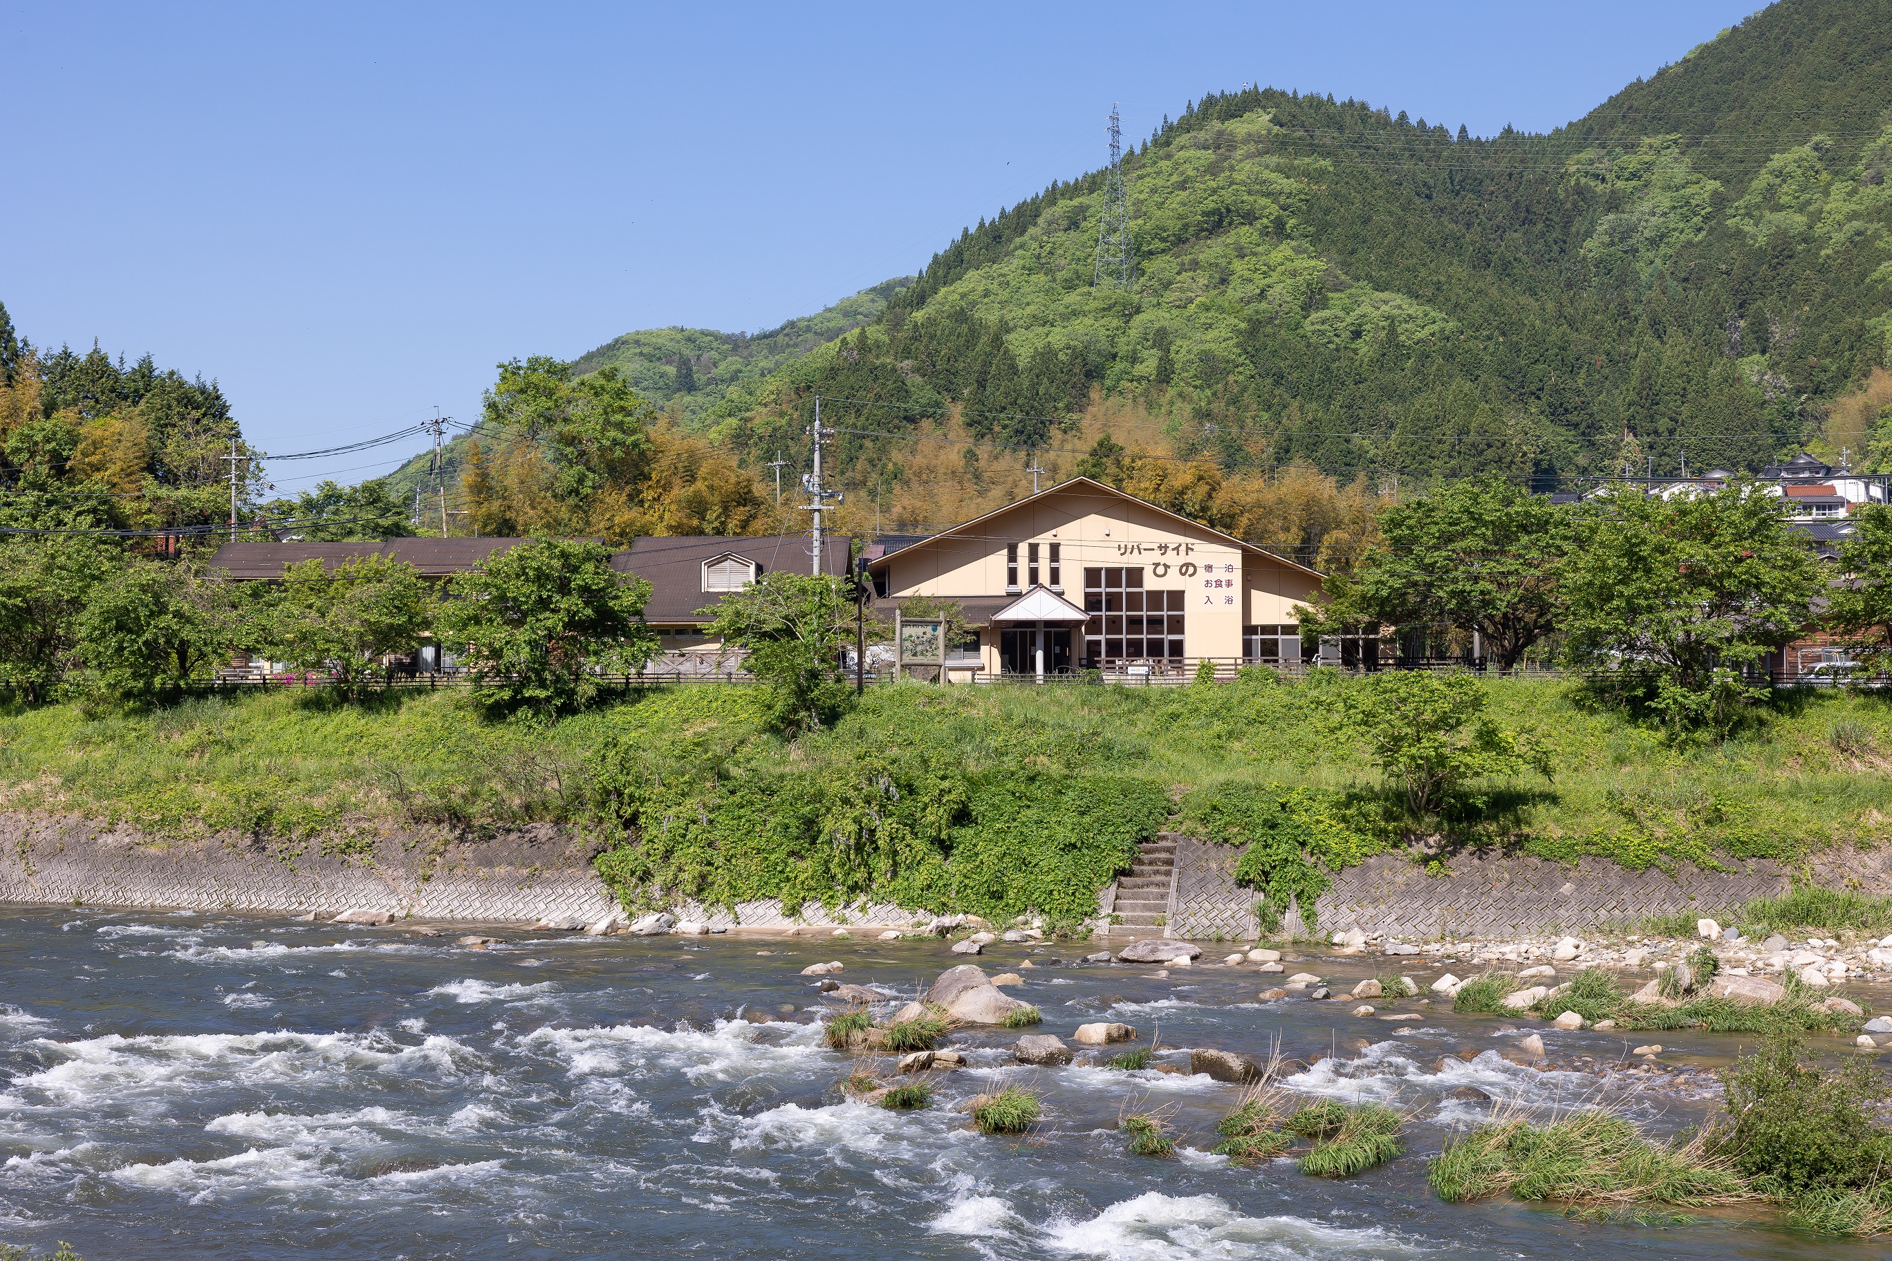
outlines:
M1101 172L1054 183L704 420L766 458L821 393L855 486L946 403L1042 450L1099 395L1226 471L1758 469L1888 355L1888 62L1892 0L1782 0L1548 136L1209 95L1124 161L1128 291Z

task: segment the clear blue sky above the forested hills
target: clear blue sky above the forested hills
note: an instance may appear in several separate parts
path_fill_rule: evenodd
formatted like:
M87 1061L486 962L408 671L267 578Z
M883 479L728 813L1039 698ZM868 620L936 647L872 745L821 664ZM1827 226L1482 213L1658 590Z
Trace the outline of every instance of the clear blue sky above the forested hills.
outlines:
M1135 138L1245 81L1546 130L1754 8L0 0L0 302L308 450L473 420L499 359L912 272L1101 164L1112 100Z

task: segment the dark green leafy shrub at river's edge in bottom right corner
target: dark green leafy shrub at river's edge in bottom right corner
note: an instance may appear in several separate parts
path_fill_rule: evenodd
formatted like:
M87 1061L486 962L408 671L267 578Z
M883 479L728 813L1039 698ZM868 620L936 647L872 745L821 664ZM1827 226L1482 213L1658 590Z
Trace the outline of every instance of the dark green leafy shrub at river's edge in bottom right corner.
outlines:
M1873 1104L1892 1085L1864 1062L1824 1070L1794 1036L1771 1036L1722 1072L1735 1119L1722 1149L1775 1195L1862 1189L1892 1170L1892 1131Z

